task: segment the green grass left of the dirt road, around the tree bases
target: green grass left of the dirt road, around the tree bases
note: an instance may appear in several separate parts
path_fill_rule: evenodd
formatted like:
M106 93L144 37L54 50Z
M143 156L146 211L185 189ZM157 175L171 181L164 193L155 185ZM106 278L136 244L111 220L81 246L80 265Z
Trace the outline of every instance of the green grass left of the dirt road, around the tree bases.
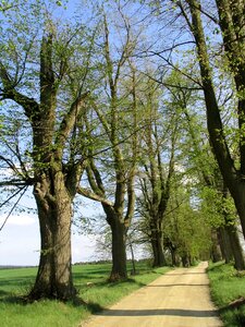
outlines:
M87 305L59 301L38 301L23 304L20 296L30 289L36 268L0 269L1 327L77 327L91 313L118 302L132 291L149 283L169 268L151 269L138 263L139 275L128 281L108 283L111 265L77 265L73 267L74 284Z

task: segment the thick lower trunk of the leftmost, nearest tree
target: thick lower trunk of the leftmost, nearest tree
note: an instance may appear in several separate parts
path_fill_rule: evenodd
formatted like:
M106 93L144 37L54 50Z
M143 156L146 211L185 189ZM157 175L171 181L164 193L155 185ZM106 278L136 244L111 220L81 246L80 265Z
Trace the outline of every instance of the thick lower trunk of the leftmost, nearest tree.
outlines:
M50 192L52 191L52 195ZM41 298L69 300L75 295L71 269L72 198L62 172L52 182L42 178L34 190L40 227L40 262L32 300Z

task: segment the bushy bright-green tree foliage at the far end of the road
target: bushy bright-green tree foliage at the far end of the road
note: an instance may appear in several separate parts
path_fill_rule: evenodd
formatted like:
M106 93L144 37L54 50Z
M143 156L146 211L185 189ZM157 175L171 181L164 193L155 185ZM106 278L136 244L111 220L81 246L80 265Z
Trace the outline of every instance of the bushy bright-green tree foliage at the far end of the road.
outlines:
M180 259L185 267L210 258L211 228L204 218L193 199L192 181L181 184L180 177L175 178L163 225L166 249L174 266Z

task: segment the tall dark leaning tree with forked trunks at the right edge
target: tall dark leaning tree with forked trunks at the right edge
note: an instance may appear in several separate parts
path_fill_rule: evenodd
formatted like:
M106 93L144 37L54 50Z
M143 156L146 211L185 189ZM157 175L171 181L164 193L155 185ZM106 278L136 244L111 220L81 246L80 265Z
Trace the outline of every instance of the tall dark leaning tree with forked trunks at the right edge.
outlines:
M147 2L148 1L144 1ZM223 181L228 186L238 216L243 234L245 235L245 198L244 198L244 3L243 1L220 0L209 2L204 8L199 0L186 1L150 1L159 10L159 16L174 22L180 28L175 28L177 43L172 38L172 46L168 49L148 51L158 58L163 59L172 70L182 72L189 81L195 82L196 89L203 89L206 102L207 125L211 148L219 165ZM205 1L203 2L205 3ZM168 10L161 11L161 4L168 5ZM206 3L207 4L207 3ZM170 13L174 16L170 16ZM217 15L219 14L219 17ZM172 20L172 21L171 21ZM209 23L206 24L206 22ZM205 24L205 28L204 28ZM184 28L182 28L184 26ZM209 27L210 26L210 27ZM212 28L212 31L211 31ZM168 28L167 28L168 29ZM173 29L172 29L173 31ZM189 39L187 31L191 31L193 38ZM183 33L181 33L183 32ZM212 33L213 38L209 37ZM220 32L222 33L222 46L219 46ZM174 33L174 32L173 32ZM219 35L218 37L215 37ZM215 43L213 39L217 41ZM182 47L182 50L181 50ZM218 51L217 51L218 48ZM193 56L196 50L199 64L200 81L198 75L189 74L183 69L180 61L174 64L176 58ZM167 53L164 56L164 53ZM173 56L175 55L175 58ZM213 56L215 53L215 56ZM186 56L187 55L187 56ZM215 59L213 59L215 58ZM222 69L217 66L217 59L222 61ZM195 63L194 63L195 65ZM225 83L222 73L226 73ZM193 72L193 70L192 70ZM229 83L228 83L229 81ZM220 92L219 85L229 85L226 95ZM234 87L232 86L234 84ZM231 99L233 101L231 101ZM236 137L231 142L228 124L225 123L223 108L230 107L233 114L229 130Z

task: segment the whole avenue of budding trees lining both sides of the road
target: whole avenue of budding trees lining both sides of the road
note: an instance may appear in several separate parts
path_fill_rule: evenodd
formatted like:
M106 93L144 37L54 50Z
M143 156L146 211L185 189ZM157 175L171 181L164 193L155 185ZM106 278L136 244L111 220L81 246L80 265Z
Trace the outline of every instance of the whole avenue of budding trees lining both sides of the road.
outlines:
M0 161L8 172L0 185L4 203L32 186L40 226L29 298L75 295L71 223L79 195L101 203L112 281L127 277L134 216L155 266L166 264L166 249L173 264L207 258L219 240L225 259L243 269L231 196L245 232L244 4L95 4L73 21L69 11L59 20L60 1L0 5Z

